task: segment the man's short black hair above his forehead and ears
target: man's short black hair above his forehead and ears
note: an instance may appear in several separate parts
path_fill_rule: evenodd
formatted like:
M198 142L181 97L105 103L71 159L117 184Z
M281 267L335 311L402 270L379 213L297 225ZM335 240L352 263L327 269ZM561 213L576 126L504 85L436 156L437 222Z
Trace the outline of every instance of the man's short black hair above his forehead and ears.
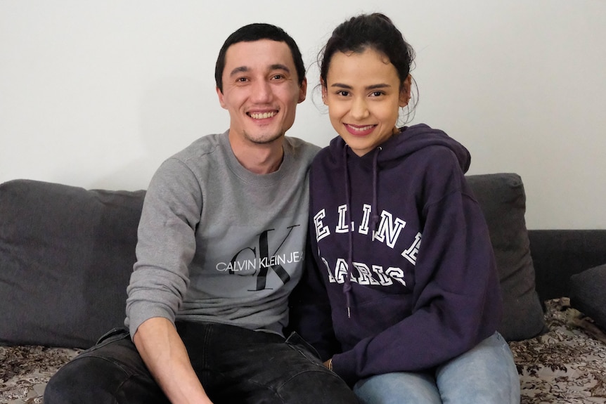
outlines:
M223 92L223 70L225 69L225 54L227 53L227 49L233 44L238 44L238 42L252 42L260 41L262 39L285 42L288 45L290 53L292 54L292 60L295 61L297 80L299 86L301 86L303 79L305 78L305 65L295 39L292 39L289 34L282 28L276 27L276 25L257 22L239 28L236 32L233 32L233 34L227 37L223 46L221 46L219 56L217 57L217 64L214 67L214 81L217 83L217 87L221 93Z

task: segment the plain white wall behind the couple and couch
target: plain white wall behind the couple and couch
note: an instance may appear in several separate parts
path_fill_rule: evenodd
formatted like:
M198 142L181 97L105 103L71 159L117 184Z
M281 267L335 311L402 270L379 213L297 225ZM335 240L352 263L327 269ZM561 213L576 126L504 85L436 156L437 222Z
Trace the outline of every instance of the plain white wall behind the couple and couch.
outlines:
M465 144L471 174L520 174L529 228L606 228L606 1L208 3L1 0L0 182L146 188L227 128L213 77L233 30L280 25L311 65L337 23L382 11L418 53L412 123ZM328 144L319 104L309 93L290 135Z

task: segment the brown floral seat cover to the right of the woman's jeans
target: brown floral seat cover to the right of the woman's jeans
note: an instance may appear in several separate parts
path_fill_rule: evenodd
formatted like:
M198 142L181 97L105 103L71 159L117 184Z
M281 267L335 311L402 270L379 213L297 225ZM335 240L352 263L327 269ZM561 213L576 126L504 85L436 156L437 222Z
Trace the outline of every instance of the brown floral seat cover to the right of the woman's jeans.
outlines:
M546 308L548 333L510 342L522 404L606 403L606 333L568 298Z

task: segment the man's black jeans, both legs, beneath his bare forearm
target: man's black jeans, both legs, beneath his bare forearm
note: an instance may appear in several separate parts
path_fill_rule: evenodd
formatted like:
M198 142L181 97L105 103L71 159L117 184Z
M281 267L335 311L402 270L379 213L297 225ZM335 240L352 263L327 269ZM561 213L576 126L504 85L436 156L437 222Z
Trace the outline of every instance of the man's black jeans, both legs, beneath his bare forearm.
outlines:
M220 403L357 403L297 334L287 340L216 323L177 322L193 368ZM114 330L62 367L44 391L45 404L169 404L128 332Z

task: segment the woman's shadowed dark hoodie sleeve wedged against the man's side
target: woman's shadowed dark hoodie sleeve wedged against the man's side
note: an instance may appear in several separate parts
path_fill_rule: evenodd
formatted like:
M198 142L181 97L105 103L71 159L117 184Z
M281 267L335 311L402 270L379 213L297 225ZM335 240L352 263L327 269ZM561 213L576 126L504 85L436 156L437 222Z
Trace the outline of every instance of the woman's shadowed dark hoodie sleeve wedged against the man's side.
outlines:
M316 348L324 362L340 351L331 317L330 301L321 280L314 243L308 234L305 270L299 284L290 294L290 322L287 332L297 332Z

